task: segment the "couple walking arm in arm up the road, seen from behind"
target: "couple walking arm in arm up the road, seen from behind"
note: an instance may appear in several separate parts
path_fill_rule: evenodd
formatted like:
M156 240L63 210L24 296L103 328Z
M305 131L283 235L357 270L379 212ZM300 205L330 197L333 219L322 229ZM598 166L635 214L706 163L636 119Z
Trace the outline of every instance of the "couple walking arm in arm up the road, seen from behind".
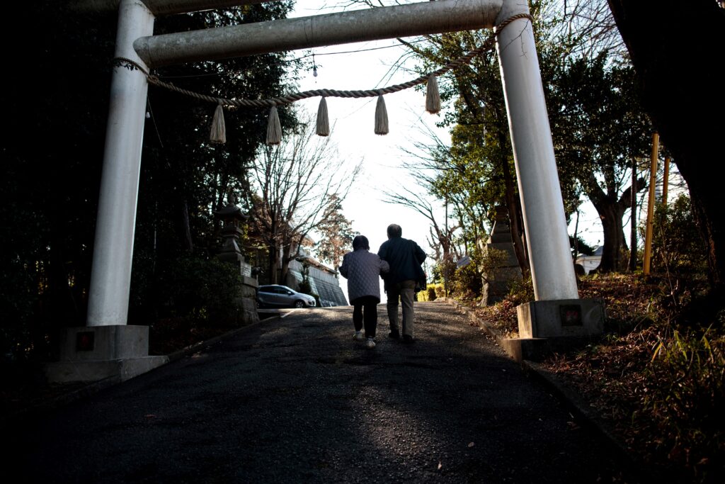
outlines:
M389 337L400 339L398 304L402 305L402 341L413 343L413 298L415 283L425 279L421 264L426 253L413 240L402 238L402 229L396 223L388 226L388 239L377 254L370 253L368 237L358 235L352 239L352 252L342 258L340 274L347 279L347 296L355 326L354 340L366 341L368 349L375 348L380 303L380 280L388 295ZM363 335L363 326L365 334Z

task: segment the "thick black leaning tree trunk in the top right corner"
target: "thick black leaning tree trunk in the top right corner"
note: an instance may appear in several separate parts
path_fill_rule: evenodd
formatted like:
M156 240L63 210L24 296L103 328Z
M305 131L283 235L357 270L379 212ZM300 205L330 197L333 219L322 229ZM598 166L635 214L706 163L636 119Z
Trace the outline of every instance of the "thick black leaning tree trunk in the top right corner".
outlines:
M722 160L725 132L722 76L725 9L713 0L609 0L639 77L642 104L689 188L698 227L708 242L709 277L725 289L725 217L721 181L712 163ZM674 32L689 28L690 35Z

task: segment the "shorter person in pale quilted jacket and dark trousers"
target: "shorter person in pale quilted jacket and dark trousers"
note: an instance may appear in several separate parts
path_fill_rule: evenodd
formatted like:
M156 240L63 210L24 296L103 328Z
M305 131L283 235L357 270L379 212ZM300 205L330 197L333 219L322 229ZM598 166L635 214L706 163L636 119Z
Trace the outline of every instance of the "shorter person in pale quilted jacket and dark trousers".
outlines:
M347 297L352 304L352 324L355 334L352 339L366 341L368 349L375 348L375 332L378 327L378 304L380 303L380 275L390 266L377 254L370 253L368 237L357 235L352 239L352 252L345 254L340 274L347 279ZM363 323L365 335L363 335Z

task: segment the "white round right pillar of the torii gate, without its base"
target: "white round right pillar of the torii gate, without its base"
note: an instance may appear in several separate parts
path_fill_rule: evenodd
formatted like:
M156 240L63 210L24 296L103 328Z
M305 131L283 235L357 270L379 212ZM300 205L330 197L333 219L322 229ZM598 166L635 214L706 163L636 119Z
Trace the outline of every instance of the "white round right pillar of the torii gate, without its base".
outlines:
M520 13L520 4L526 1L505 2L497 22ZM579 291L531 22L526 18L511 22L498 33L496 46L534 297L576 299Z

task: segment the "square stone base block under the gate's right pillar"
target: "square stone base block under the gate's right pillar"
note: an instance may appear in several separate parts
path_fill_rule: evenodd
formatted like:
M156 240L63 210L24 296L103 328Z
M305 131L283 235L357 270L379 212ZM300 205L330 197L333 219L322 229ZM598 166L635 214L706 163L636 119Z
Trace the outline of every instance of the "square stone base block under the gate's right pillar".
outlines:
M518 305L518 337L593 337L604 332L601 299L533 301Z

